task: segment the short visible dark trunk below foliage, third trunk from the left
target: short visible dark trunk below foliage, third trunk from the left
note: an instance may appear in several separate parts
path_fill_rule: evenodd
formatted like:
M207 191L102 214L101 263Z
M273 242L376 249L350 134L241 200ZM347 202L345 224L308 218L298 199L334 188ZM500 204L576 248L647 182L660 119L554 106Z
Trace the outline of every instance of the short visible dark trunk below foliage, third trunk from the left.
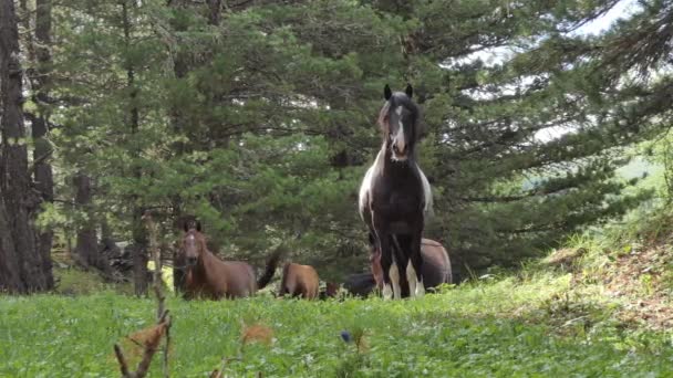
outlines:
M86 213L86 219L77 229L75 255L84 266L92 266L110 274L110 264L99 249L96 222L92 209L91 178L82 172L74 178L75 204Z

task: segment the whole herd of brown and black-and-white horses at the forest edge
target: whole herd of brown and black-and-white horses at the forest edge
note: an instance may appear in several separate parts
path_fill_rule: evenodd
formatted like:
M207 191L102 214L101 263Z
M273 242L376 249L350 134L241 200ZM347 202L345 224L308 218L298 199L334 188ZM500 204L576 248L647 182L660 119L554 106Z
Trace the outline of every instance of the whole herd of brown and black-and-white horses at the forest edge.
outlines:
M432 211L429 182L416 162L421 138L420 111L413 88L392 92L384 87L385 104L379 114L383 134L381 150L367 169L359 196L359 212L369 229L370 272L353 274L343 287L366 296L379 290L384 298L422 296L428 288L452 283L446 249L424 239L425 219ZM280 250L267 259L263 273L241 261L222 261L208 250L200 223L185 223L175 258L176 286L186 298L237 298L253 295L267 286L282 260ZM401 274L402 271L402 274ZM279 296L314 300L335 296L339 287L319 288L313 266L287 262L282 267Z

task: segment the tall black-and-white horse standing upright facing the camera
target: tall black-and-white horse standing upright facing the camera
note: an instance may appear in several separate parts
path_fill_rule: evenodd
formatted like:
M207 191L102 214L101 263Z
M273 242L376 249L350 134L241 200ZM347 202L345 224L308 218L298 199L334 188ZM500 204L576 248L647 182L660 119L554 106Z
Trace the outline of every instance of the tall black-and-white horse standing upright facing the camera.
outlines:
M383 95L385 104L377 120L383 144L360 186L360 217L381 251L383 297L422 296L421 239L432 209L432 191L416 164L420 111L412 101L411 85L405 92L392 93L386 84ZM400 274L401 269L406 274Z

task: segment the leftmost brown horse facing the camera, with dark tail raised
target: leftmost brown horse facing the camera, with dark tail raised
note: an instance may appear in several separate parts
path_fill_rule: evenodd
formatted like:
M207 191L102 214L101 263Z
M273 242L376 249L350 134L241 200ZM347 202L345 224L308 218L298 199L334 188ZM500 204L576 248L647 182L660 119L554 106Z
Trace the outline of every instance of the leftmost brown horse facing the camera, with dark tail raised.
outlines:
M279 251L272 253L265 272L255 280L255 270L242 261L221 261L206 245L200 223L187 225L182 239L182 255L185 262L185 298L206 297L210 300L239 298L255 294L273 277L280 260Z

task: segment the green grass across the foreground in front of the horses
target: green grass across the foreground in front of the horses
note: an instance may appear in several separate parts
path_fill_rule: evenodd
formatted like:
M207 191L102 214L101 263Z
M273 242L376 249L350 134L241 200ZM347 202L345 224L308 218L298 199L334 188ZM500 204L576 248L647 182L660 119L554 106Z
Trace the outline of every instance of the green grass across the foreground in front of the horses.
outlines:
M671 334L611 323L613 304L600 293L568 294L570 285L570 274L524 270L401 302L170 297L170 370L207 377L238 356L242 323L260 323L273 330L271 345L246 345L229 376L673 375ZM151 325L154 306L113 292L0 297L0 376L117 376L113 344ZM364 346L345 344L342 330L362 333ZM159 376L157 358L152 371Z

